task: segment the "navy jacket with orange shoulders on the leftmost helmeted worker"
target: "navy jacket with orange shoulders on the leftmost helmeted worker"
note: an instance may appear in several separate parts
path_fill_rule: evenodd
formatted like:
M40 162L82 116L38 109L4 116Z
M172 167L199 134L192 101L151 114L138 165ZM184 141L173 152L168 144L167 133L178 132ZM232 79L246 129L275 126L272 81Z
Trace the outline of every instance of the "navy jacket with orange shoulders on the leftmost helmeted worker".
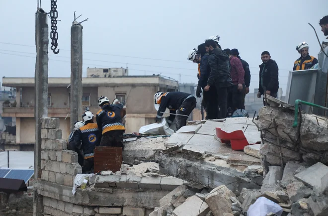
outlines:
M101 139L101 132L98 129L96 123L87 123L84 126L80 127L79 130L73 132L72 136L70 135L69 140L70 144L76 148L81 148L83 150L84 156L87 154L93 155L93 149L96 146L99 146Z

